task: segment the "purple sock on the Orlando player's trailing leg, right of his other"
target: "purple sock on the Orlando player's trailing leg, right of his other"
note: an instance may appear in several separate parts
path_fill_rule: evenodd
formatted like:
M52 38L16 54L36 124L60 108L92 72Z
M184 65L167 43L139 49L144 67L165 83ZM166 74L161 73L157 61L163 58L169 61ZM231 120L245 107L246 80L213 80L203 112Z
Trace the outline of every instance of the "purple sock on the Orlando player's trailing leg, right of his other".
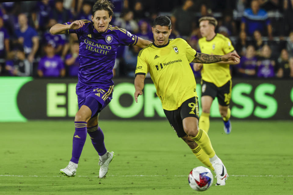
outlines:
M104 143L104 134L102 129L98 125L96 125L93 127L89 127L87 131L92 140L92 145L98 152L99 156L103 156L104 154L106 154L107 150Z

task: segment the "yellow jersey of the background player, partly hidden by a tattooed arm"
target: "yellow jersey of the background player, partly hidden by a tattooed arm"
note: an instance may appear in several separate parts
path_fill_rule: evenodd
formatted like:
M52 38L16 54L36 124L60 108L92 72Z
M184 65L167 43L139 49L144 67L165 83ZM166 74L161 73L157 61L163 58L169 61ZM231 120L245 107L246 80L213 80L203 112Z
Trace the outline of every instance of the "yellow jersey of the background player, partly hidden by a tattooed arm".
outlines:
M209 55L225 55L234 51L229 38L222 34L216 34L215 37L207 41L206 37L198 40L201 53ZM231 79L229 64L203 64L201 77L203 80L214 83L217 87L221 87Z

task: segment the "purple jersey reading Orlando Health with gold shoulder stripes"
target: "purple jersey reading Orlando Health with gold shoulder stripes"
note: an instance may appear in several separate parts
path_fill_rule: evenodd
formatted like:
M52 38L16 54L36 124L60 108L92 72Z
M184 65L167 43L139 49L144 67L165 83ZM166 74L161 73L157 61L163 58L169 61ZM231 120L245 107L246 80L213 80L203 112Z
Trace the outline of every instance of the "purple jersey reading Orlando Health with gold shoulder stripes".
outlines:
M76 33L79 40L78 82L96 87L111 86L118 46L135 45L137 36L112 25L98 33L91 21L84 22L85 25L77 30L67 30L67 33Z

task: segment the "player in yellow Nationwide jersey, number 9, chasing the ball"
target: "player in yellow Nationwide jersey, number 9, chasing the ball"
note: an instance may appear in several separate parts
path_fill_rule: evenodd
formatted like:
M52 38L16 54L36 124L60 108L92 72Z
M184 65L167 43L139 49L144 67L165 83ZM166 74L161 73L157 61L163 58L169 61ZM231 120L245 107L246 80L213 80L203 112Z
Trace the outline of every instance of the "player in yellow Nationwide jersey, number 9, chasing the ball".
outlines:
M181 38L168 39L171 20L158 16L153 24L154 42L139 52L137 57L134 98L142 95L147 72L157 89L165 115L172 128L190 147L196 157L215 171L216 185L225 185L227 170L217 157L208 134L198 128L199 108L196 82L190 62L214 63L235 60L237 54L207 55L197 53Z

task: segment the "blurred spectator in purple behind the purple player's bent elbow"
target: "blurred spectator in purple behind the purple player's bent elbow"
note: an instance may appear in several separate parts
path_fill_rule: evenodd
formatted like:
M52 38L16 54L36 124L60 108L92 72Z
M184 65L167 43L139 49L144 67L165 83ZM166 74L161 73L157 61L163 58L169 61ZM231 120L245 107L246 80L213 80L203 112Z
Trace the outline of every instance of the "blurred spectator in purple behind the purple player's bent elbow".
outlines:
M43 35L43 43L50 43L55 49L55 54L65 57L67 50L64 49L66 44L65 34L51 34L49 32L50 28L57 24L55 19L50 19L47 25L47 30Z

